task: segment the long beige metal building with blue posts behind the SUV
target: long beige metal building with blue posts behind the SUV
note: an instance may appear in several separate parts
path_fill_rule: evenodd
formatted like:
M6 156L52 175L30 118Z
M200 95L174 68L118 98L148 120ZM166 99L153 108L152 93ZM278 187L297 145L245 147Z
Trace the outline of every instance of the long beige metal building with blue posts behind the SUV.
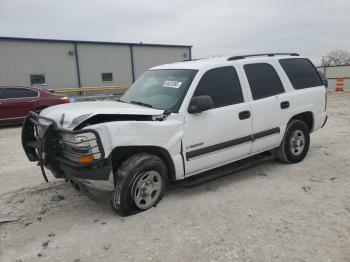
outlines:
M0 85L129 85L152 66L191 59L191 48L0 37Z

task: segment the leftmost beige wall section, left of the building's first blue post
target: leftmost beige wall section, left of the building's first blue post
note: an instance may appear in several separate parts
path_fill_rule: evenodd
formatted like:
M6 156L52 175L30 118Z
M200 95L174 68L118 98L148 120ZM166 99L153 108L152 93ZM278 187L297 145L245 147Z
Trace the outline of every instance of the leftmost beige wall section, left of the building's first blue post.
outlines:
M77 86L72 43L0 40L0 84L29 85L30 74L45 74L45 87Z

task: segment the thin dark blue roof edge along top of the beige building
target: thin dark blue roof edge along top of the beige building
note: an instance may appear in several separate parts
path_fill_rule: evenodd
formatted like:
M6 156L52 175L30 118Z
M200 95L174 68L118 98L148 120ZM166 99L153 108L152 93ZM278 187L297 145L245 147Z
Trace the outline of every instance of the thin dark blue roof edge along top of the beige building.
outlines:
M25 37L7 37L0 36L0 40L16 40L16 41L37 41L37 42L62 42L62 43L86 43L86 44L100 44L100 45L132 45L132 46L155 46L155 47L187 47L191 45L171 45L171 44L144 44L128 43L128 42L106 42L106 41L90 41L90 40L66 40L66 39L47 39L47 38L25 38Z

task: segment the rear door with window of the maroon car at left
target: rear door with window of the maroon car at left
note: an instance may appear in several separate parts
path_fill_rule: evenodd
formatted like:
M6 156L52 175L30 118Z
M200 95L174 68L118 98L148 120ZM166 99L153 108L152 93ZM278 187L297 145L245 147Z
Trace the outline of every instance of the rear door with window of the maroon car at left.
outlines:
M34 109L38 92L27 88L4 88L3 116L8 120L22 119Z

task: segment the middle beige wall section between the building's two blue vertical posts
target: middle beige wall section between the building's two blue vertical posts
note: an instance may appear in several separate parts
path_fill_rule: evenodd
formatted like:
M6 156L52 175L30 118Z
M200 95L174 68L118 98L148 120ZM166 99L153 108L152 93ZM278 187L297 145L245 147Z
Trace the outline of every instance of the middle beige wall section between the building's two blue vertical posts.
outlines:
M129 46L78 44L78 53L82 86L132 83ZM113 81L103 82L102 73L112 73Z

